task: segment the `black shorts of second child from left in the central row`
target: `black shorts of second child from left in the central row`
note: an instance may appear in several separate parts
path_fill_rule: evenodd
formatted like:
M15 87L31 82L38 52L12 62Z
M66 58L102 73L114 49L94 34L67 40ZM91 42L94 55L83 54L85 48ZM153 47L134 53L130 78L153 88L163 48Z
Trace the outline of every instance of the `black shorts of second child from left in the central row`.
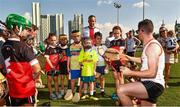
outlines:
M60 62L59 63L59 74L60 75L68 75L68 70L67 70L67 61Z

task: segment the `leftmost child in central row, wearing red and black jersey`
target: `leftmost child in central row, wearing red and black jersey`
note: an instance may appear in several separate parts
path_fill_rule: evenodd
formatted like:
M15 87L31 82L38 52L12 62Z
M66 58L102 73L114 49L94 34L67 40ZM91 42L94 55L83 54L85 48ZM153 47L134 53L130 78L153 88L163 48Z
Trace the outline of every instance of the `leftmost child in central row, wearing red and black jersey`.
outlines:
M54 33L49 34L49 45L45 51L45 71L47 73L47 85L50 93L50 99L56 100L57 98L61 98L61 94L59 93L59 84L58 84L58 69L59 69L59 49L57 47L57 37ZM55 91L54 94L51 87L51 82L54 80Z

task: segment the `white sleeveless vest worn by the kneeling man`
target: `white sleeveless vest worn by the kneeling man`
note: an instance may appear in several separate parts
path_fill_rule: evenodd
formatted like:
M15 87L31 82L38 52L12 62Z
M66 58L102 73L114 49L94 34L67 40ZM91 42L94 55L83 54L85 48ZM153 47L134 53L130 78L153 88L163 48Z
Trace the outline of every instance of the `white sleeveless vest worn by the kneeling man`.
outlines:
M163 48L161 47L160 43L157 40L151 40L143 49L143 53L141 55L141 60L142 60L142 67L141 67L141 71L144 70L148 70L148 58L147 55L145 53L146 48L149 46L149 44L151 43L156 43L159 45L159 47L161 48L161 54L159 56L159 61L158 61L158 68L157 68L157 74L155 78L143 78L141 79L141 81L153 81L156 83L159 83L161 85L164 86L164 75L163 75L163 71L164 71L164 66L165 66L165 55L164 55L164 51ZM146 72L146 71L144 71Z

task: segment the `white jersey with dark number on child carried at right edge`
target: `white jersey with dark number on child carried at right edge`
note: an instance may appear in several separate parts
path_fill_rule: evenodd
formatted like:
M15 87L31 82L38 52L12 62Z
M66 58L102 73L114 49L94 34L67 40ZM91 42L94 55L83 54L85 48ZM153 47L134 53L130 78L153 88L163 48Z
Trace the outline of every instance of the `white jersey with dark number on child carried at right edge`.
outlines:
M177 39L175 37L167 37L166 38L166 48L174 49L176 47Z

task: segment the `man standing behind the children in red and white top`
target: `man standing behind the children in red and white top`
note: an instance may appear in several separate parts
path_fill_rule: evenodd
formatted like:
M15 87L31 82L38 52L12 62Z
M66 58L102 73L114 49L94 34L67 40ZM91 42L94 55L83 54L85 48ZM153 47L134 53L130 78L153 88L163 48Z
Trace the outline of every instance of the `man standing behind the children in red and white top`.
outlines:
M90 15L88 17L88 23L89 23L89 26L86 26L86 27L83 28L83 37L90 37L91 40L92 40L92 43L94 45L95 44L94 34L96 32L100 31L97 27L95 27L96 16Z

